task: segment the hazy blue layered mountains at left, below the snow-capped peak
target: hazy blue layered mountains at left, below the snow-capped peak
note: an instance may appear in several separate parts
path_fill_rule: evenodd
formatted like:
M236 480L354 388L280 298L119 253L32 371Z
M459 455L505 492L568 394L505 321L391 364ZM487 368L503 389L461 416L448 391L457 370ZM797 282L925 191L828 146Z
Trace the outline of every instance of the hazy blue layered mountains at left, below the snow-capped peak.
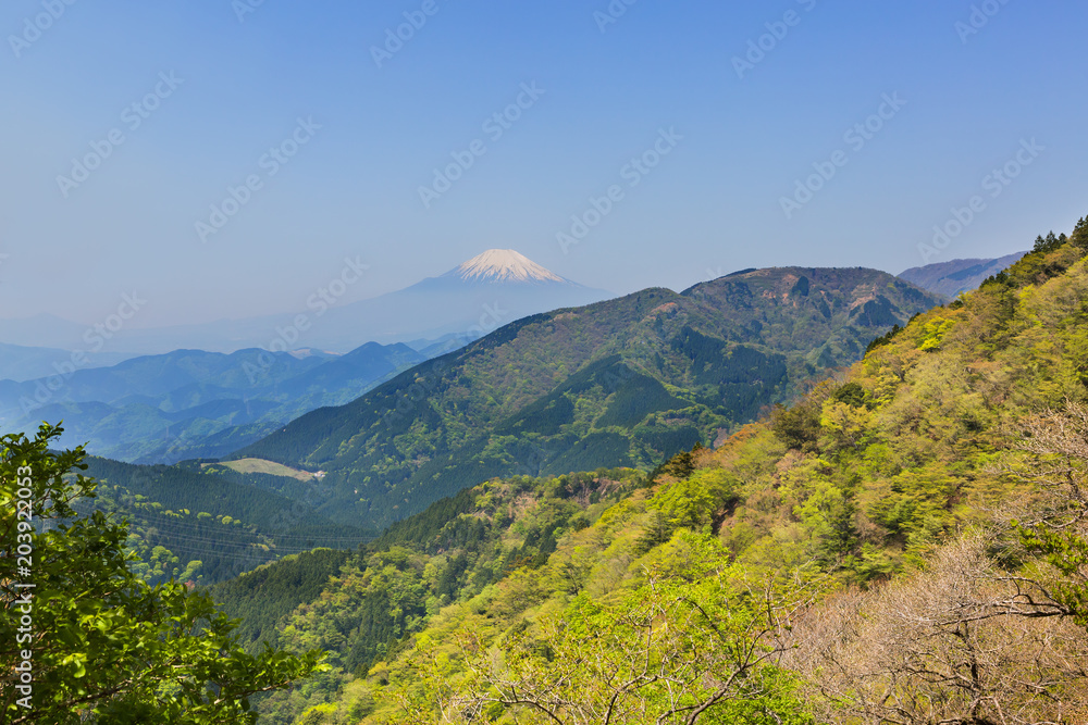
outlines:
M346 355L176 350L28 382L0 380L0 426L64 422L62 443L107 458L162 463L215 458L324 405L349 402L426 360L370 342Z

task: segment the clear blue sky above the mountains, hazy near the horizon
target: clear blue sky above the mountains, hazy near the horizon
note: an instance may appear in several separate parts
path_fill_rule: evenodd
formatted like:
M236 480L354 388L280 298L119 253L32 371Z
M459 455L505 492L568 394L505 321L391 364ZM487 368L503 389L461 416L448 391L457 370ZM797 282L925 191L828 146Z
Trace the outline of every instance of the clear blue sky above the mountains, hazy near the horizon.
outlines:
M898 273L973 197L929 261L1088 213L1081 1L627 1L8 0L0 316L298 310L346 258L361 299L495 247L617 293Z

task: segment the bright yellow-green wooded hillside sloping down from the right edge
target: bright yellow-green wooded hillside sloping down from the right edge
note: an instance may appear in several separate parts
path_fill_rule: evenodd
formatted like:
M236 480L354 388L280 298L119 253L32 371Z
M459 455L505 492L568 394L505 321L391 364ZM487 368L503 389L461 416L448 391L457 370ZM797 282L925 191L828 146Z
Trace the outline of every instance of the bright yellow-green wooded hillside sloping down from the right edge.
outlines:
M653 475L392 527L255 618L337 666L265 722L1088 722L1086 252L1081 222Z

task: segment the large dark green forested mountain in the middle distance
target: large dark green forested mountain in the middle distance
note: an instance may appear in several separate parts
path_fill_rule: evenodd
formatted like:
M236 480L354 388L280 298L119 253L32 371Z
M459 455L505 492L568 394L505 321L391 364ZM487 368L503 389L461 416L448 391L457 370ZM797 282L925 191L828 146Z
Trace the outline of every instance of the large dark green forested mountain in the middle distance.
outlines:
M387 525L492 476L653 467L795 395L937 298L871 270L776 268L534 315L247 447L329 473Z

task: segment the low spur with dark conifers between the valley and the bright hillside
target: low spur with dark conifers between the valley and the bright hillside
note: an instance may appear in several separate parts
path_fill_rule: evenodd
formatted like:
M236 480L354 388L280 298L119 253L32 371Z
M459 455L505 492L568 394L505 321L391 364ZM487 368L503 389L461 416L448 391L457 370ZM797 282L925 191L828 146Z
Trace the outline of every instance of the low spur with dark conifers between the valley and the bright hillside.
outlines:
M544 566L565 535L644 482L632 470L495 480L395 524L355 553L288 557L218 585L212 592L226 614L242 618L248 646L331 652L335 671L263 702L263 722L294 722L345 686L361 698L353 697L345 715L366 714L373 701L360 686L375 663L404 650L450 602Z

